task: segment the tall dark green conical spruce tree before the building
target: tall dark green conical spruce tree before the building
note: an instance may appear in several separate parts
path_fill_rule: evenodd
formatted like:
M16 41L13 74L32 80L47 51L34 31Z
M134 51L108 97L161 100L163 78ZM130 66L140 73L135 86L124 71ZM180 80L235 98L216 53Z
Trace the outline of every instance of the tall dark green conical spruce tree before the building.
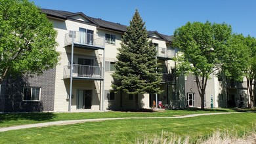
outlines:
M115 92L127 94L159 93L160 74L156 73L156 49L149 46L146 27L136 10L118 48L116 71L112 75Z

